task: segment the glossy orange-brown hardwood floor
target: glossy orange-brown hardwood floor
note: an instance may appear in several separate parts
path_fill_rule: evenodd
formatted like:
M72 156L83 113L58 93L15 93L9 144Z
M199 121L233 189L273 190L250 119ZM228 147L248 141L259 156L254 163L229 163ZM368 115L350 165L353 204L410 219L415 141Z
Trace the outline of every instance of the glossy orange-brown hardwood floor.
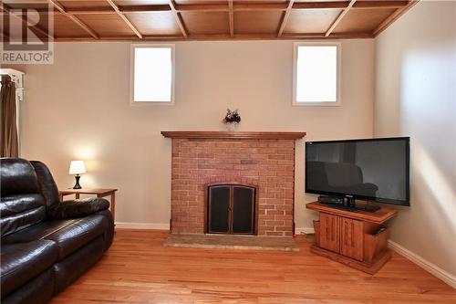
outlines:
M456 290L393 254L370 276L309 251L165 247L167 232L118 230L103 259L51 303L456 303Z

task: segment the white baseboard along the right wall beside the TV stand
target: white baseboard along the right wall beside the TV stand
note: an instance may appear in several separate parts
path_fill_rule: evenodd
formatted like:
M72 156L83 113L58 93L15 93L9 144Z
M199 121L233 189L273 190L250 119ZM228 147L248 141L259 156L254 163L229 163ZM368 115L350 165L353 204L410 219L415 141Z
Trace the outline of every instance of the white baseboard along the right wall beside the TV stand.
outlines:
M389 240L388 246L402 257L406 257L407 259L417 264L424 270L430 272L430 274L434 275L437 278L440 278L442 281L450 285L452 288L456 288L456 276L451 275L450 272L445 271L437 265L430 263L430 261L418 256L417 254L411 252L409 249L400 246L396 242Z

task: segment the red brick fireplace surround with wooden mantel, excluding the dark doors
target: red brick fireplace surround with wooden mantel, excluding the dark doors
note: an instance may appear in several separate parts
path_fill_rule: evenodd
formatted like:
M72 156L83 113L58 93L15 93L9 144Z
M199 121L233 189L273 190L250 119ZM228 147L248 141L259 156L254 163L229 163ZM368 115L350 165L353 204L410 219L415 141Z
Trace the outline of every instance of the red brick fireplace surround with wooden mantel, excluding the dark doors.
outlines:
M207 185L254 186L258 236L293 236L295 140L305 132L162 131L172 140L171 233L207 233Z

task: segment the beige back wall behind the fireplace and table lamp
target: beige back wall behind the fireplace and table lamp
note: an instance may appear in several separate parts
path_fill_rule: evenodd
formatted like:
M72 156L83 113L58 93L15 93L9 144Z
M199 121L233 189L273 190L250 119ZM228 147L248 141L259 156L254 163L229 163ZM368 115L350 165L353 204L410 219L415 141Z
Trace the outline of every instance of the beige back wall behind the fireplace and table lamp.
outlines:
M291 41L177 43L175 106L130 106L129 43L57 43L55 56L54 65L18 67L22 156L46 162L60 188L74 183L70 160L85 160L83 186L119 188L119 222L169 223L171 140L160 131L222 131L227 107L240 110L240 131L307 131L309 140L373 133L373 40L342 42L341 107L291 105ZM311 227L304 141L297 147L295 222Z

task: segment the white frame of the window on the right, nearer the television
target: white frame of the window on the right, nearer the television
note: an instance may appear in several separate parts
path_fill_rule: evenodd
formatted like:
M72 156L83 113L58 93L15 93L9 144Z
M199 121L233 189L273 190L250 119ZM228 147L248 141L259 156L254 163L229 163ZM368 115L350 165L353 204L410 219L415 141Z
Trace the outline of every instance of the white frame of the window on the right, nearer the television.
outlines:
M337 47L336 58L336 101L320 101L320 102L298 102L296 100L297 91L297 49L298 47ZM342 105L341 100L341 75L342 75L342 44L340 42L295 42L293 45L293 106L313 106L313 107L337 107Z

